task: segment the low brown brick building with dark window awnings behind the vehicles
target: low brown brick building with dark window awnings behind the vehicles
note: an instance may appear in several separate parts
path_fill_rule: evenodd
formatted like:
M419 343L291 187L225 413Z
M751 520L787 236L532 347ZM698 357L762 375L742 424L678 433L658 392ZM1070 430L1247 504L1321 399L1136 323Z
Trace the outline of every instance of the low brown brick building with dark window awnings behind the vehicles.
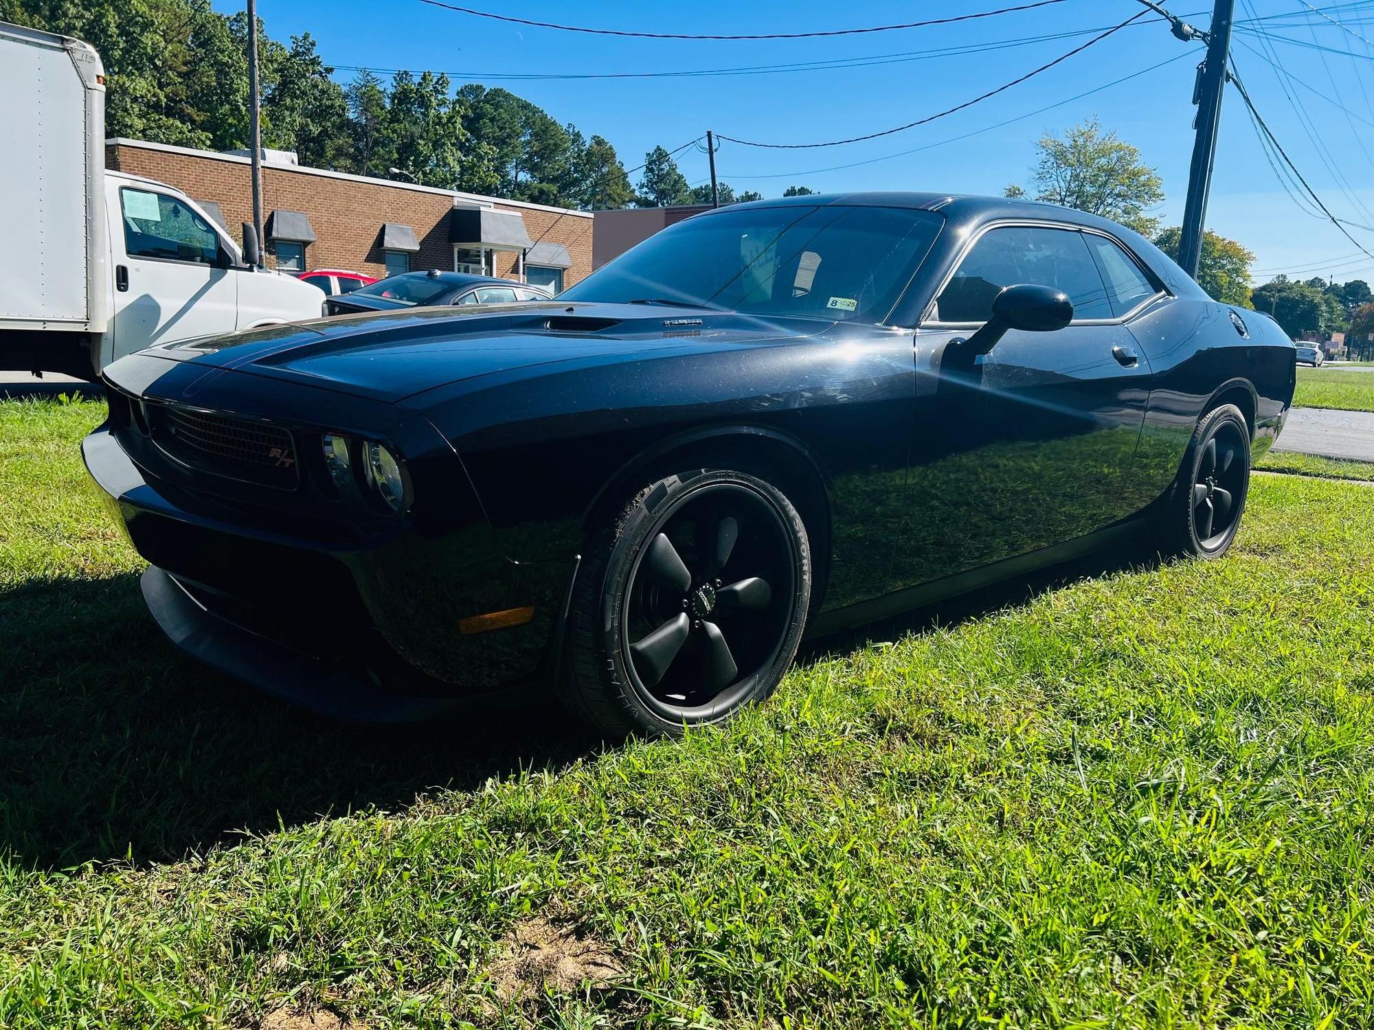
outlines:
M183 190L235 239L253 221L246 154L106 140L106 166ZM592 216L523 201L327 172L265 151L264 253L284 271L341 268L372 276L442 268L545 286L592 269Z

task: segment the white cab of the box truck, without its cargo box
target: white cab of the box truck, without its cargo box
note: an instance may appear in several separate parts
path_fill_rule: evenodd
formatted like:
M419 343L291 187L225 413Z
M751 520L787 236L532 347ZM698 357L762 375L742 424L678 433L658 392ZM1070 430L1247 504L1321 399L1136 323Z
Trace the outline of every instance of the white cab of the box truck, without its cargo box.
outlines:
M320 291L253 268L229 235L165 183L104 173L110 324L100 368L135 350L191 336L320 314Z

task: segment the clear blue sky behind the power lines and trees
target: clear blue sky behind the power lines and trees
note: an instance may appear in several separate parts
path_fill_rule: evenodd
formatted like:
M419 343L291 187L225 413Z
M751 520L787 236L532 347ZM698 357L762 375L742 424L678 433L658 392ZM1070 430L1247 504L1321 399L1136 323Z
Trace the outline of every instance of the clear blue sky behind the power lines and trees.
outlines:
M702 8L628 0L583 4L466 0L463 5L596 27L742 34L888 25L1028 1L767 0ZM1369 43L1374 41L1374 0L1311 3L1342 25L1312 12L1304 0L1237 0L1237 19L1263 19L1254 25L1270 33L1267 38L1253 32L1237 33L1232 45L1237 69L1260 114L1326 206L1340 218L1374 225L1374 44ZM1164 5L1201 27L1210 21L1210 0L1168 0ZM216 7L229 11L239 4L216 0ZM503 85L559 121L576 124L584 135L607 137L627 168L642 163L643 154L655 144L672 148L706 129L743 140L808 143L900 125L1013 80L1091 34L984 52L949 54L949 49L1105 29L1138 10L1136 0L1062 0L996 18L863 36L676 41L507 25L420 0L258 0L258 14L273 37L284 40L311 32L331 65L430 69L448 71L455 82ZM1178 224L1193 146L1193 69L1201 56L1201 44L1179 43L1162 22L1135 25L1022 85L929 125L818 150L723 143L717 169L736 188L758 190L765 196L778 195L791 184L822 191L1000 194L1009 183L1029 179L1035 140L1041 132L1059 132L1098 115L1105 128L1139 147L1145 159L1160 170L1168 194L1160 213L1167 222ZM860 58L883 63L710 77L495 78L513 73L665 71ZM1268 63L1272 60L1286 76ZM1161 62L1169 63L1069 100ZM341 70L338 77L346 80L350 74ZM1040 111L1063 100L1069 102ZM984 129L988 130L978 132ZM892 157L912 150L916 152ZM705 152L688 148L679 162L688 181L706 180ZM840 165L855 166L835 169ZM632 179L638 181L638 176ZM1208 228L1250 247L1261 273L1292 269L1303 277L1330 273L1337 280L1374 280L1374 260L1359 251L1363 246L1374 253L1374 231L1349 228L1359 242L1356 246L1329 221L1301 210L1290 199L1275 179L1234 89L1223 110Z

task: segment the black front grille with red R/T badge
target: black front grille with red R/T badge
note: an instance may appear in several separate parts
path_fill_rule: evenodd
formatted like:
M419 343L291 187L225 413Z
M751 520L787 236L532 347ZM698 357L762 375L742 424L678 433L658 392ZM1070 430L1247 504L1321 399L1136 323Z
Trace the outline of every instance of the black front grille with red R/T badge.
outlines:
M295 439L284 428L190 408L150 407L153 438L183 464L286 489L300 481Z

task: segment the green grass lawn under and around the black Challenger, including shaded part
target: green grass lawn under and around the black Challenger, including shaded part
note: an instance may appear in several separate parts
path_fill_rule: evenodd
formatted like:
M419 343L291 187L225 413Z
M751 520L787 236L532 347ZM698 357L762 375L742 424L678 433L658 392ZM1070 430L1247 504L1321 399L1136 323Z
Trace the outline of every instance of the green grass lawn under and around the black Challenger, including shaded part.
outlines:
M1256 477L1221 562L1084 563L611 747L177 658L99 417L0 405L0 1026L1374 1023L1369 488Z

